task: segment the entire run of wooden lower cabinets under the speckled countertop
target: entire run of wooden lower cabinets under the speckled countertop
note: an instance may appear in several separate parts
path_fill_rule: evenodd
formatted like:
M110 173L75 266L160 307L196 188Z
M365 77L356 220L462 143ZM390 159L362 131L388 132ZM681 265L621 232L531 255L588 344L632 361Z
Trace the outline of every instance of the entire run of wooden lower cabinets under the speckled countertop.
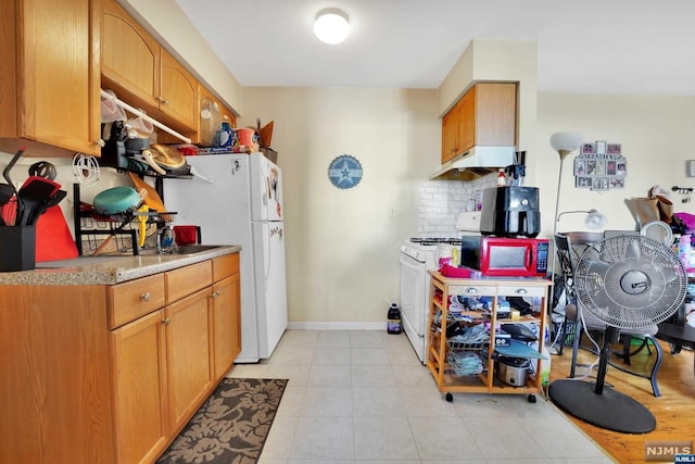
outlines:
M186 290L187 274L208 277ZM0 463L154 462L231 368L239 314L238 253L115 286L0 286Z

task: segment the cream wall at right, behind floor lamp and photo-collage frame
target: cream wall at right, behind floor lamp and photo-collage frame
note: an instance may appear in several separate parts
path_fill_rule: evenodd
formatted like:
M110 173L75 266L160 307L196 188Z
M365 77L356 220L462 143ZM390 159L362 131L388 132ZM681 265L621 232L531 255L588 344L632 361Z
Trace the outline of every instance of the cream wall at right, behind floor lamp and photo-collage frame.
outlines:
M606 140L621 143L628 176L623 189L595 192L574 188L572 153L563 167L559 211L595 208L608 217L608 229L636 227L626 199L646 197L654 185L695 187L685 177L685 160L695 159L695 98L664 96L606 96L580 93L539 93L538 151L541 172L543 235L552 235L559 156L549 145L556 131L578 131L586 141ZM695 203L681 203L671 195L674 211L695 213ZM585 230L582 215L565 215L558 230Z

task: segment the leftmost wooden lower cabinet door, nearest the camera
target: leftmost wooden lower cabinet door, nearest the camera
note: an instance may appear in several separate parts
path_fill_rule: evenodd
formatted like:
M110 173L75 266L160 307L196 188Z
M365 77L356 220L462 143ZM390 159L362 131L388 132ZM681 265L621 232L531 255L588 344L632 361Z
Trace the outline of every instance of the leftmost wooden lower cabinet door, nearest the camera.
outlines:
M151 462L169 437L164 310L111 333L116 461Z

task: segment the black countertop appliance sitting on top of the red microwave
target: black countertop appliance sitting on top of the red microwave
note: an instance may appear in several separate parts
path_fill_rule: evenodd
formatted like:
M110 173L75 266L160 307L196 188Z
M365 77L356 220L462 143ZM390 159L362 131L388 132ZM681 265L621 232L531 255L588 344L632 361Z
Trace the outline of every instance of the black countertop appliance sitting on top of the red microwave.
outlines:
M483 190L482 235L533 238L540 231L538 187L492 187Z

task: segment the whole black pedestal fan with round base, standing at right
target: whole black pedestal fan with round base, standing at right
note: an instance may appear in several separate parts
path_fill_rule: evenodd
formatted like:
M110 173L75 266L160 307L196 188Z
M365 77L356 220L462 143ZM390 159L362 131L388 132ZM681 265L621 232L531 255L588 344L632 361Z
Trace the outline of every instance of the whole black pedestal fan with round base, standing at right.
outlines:
M581 310L606 325L596 383L555 380L548 396L558 407L597 427L646 434L656 418L632 398L604 387L610 343L620 329L630 333L658 324L683 303L687 275L678 255L644 236L611 237L582 253L574 269Z

